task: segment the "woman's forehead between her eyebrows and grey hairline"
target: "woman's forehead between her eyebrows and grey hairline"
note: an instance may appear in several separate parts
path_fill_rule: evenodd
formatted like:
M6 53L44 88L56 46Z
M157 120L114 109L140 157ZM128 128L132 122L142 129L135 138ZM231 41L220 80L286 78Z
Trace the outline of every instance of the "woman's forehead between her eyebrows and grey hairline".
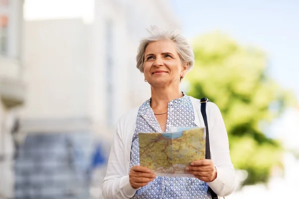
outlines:
M159 40L151 42L146 48L145 55L149 53L158 54L163 52L176 54L175 43L170 40Z

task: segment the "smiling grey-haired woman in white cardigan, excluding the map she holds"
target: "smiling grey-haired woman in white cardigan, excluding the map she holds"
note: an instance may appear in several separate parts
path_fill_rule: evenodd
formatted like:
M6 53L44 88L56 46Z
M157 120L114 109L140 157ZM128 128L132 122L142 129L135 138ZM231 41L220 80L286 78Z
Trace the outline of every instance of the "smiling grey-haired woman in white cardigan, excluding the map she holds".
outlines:
M211 160L186 167L188 177L156 177L140 166L140 132L170 132L171 127L201 127L200 101L180 92L179 85L193 66L194 54L175 31L152 29L140 42L137 68L149 83L151 98L123 115L116 126L102 190L105 199L210 199L235 188L228 136L219 108L207 102ZM181 114L178 114L181 113Z

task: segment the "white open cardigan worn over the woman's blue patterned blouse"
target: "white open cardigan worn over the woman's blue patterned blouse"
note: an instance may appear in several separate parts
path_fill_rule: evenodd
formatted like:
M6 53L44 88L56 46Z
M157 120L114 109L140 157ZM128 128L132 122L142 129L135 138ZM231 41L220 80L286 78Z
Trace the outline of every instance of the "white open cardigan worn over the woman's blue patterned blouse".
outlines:
M194 110L194 123L199 127L204 126L200 112L200 100L190 98ZM132 109L117 122L107 173L102 186L105 199L131 199L136 193L136 190L131 187L129 182L129 164L138 109ZM235 188L235 170L229 155L226 128L216 104L208 102L206 113L210 135L211 159L217 169L217 178L213 182L208 183L208 185L218 196L228 196Z

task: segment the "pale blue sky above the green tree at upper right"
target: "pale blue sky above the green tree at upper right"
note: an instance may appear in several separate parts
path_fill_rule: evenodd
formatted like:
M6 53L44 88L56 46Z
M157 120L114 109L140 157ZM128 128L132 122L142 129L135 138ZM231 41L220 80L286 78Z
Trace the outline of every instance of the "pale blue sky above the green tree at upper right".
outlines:
M241 45L257 46L269 75L299 100L299 0L169 0L183 34L220 30Z

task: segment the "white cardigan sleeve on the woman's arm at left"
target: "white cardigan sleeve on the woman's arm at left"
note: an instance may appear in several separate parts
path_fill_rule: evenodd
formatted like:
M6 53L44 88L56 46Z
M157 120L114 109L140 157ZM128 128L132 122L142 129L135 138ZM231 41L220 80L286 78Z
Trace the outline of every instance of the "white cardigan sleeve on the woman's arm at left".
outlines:
M118 122L102 186L105 199L131 199L136 193L130 185L129 175L124 167L124 151L123 133Z

